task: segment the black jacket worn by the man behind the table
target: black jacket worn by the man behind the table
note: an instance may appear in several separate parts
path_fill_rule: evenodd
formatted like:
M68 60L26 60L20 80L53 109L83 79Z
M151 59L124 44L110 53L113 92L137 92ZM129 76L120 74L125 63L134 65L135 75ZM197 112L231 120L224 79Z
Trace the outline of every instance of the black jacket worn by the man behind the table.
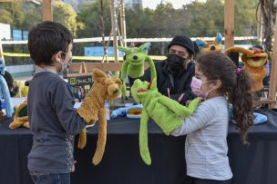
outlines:
M181 94L183 98L180 103L185 104L188 100L196 98L196 95L191 92L190 82L195 73L195 63L189 63L186 70L182 71L178 75L173 75L168 70L168 63L155 62L156 72L157 72L157 87L160 93L168 96L168 89L170 93L170 98L178 101ZM150 68L148 68L144 75L139 78L141 81L151 80ZM135 79L128 77L130 85L135 81Z

